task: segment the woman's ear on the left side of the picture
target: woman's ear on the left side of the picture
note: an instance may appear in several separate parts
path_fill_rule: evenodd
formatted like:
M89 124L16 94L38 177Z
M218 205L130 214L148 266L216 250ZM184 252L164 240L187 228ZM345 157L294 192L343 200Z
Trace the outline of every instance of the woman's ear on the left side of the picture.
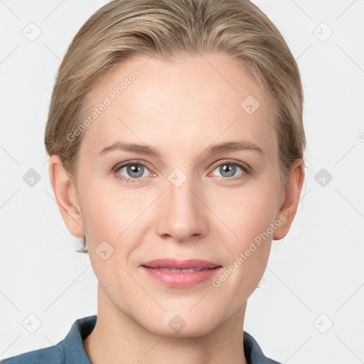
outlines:
M57 154L50 156L48 163L50 183L55 194L60 214L68 231L75 237L84 237L80 205L73 181L63 168L62 159Z

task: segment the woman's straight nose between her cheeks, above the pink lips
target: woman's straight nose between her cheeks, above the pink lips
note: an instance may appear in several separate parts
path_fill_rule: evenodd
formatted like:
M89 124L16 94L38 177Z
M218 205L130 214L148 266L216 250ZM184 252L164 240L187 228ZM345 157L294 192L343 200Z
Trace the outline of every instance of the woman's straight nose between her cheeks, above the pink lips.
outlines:
M166 191L158 199L156 231L164 240L196 241L208 232L208 207L203 189L187 178L181 186L166 181Z

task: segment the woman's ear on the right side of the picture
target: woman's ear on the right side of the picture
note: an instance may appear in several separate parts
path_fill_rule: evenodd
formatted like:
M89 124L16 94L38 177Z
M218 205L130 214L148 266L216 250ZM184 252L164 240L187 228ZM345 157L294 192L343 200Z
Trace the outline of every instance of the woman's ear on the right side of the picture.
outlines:
M299 204L299 196L301 195L302 186L304 183L304 160L296 159L291 166L291 171L287 177L287 184L281 199L281 207L277 213L276 220L281 220L282 225L279 226L273 233L273 240L280 240L287 235L294 216L296 215ZM285 220L283 219L285 217ZM280 217L280 218L279 218Z

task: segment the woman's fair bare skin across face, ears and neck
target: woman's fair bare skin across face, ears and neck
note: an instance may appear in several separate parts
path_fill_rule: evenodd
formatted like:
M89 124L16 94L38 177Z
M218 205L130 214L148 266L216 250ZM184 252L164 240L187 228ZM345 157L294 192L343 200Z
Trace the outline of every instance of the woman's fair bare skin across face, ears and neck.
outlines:
M303 161L294 162L283 186L266 95L225 55L186 55L175 62L134 57L95 87L90 107L100 105L135 68L141 71L137 80L87 127L77 186L59 156L49 162L65 225L75 237L86 236L98 279L97 323L83 340L85 350L94 364L245 364L247 299L262 279L272 239L287 235L294 220ZM248 95L260 103L253 114L240 107ZM256 144L262 153L206 151L210 144L237 140ZM114 141L148 144L160 156L130 151L98 156ZM135 176L126 167L112 173L117 164L135 160L147 163L143 175L134 177L137 183L117 178ZM230 177L218 168L234 161L250 166L250 173L237 166ZM168 180L175 168L187 178L178 187ZM210 280L165 287L139 267L174 257L206 259L228 269L279 216L284 223L220 287ZM95 252L104 240L114 249L106 260ZM179 332L168 325L176 314L186 321Z

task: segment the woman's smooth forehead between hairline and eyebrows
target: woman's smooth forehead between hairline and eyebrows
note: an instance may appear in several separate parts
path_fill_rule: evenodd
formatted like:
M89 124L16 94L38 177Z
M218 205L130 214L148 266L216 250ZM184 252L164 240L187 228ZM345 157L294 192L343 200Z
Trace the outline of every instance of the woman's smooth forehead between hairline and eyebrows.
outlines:
M225 55L131 58L102 78L87 107L86 117L95 118L89 118L82 148L90 154L117 140L169 146L177 153L186 145L204 148L232 139L277 150L267 95L246 68Z

